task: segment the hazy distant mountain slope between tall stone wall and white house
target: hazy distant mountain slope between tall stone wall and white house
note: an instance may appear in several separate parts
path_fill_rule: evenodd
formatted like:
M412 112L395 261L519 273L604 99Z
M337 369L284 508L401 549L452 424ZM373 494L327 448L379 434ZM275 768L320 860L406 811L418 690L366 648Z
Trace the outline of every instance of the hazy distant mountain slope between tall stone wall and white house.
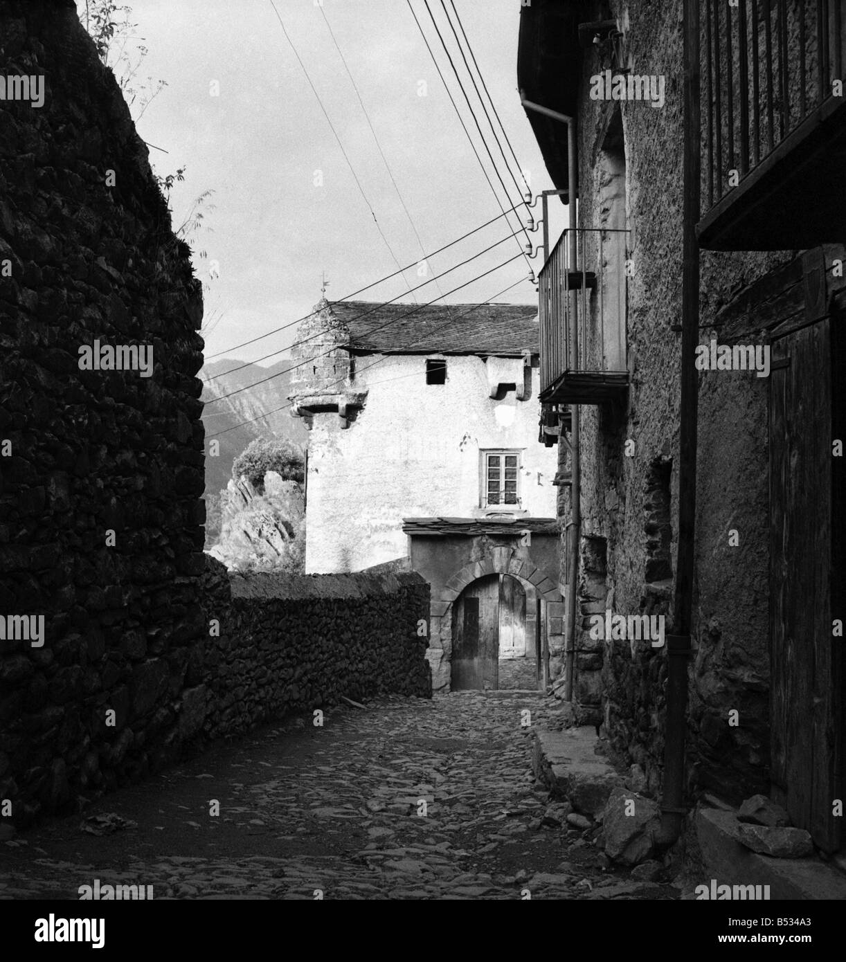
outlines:
M241 369L233 370L236 367ZM219 494L226 487L232 477L232 462L254 438L286 438L305 451L308 432L300 418L291 417L288 400L291 374L287 372L288 367L291 367L288 359L271 367L260 367L254 364L244 366L244 362L236 358L222 358L205 365L200 371L199 376L209 382L203 386L202 393L205 403L203 424L206 427L207 495ZM229 374L227 371L233 372ZM267 381L266 378L272 380ZM210 403L223 394L238 391L258 381L265 383L215 404ZM283 410L276 411L276 408ZM220 434L221 431L225 434ZM220 453L216 458L209 456L209 441L213 436L217 436L215 440L220 443Z

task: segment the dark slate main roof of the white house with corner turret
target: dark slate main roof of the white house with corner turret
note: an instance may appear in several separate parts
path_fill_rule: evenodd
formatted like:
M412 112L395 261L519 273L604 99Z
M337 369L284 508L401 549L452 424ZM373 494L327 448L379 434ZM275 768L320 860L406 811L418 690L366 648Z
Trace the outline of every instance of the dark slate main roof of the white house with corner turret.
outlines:
M348 344L353 350L502 356L526 350L536 354L540 349L538 309L532 304L431 304L418 308L416 304L370 301L330 303L333 315L349 331Z

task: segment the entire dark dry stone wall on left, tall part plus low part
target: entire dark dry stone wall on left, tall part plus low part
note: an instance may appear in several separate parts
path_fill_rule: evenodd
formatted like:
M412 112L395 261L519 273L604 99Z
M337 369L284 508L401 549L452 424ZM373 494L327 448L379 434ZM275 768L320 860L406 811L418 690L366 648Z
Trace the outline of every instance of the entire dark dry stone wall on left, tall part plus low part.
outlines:
M190 251L71 0L0 0L0 75L44 94L0 98L0 827L271 715L428 694L420 579L204 581ZM148 366L81 365L97 342Z

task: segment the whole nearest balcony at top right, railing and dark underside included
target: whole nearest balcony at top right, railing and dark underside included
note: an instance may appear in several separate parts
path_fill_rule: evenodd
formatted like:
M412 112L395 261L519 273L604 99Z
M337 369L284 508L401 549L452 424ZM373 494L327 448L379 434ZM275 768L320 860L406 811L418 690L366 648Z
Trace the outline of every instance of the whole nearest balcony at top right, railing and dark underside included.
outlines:
M842 241L846 0L705 0L701 18L701 246Z

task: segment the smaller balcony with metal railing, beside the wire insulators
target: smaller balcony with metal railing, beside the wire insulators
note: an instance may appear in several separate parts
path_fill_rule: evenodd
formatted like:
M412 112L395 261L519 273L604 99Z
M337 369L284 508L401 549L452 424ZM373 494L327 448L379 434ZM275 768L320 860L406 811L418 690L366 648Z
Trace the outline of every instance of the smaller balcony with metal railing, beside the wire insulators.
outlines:
M625 392L628 385L628 230L588 227L575 233L575 263L572 232L567 230L538 279L540 399L600 404Z

